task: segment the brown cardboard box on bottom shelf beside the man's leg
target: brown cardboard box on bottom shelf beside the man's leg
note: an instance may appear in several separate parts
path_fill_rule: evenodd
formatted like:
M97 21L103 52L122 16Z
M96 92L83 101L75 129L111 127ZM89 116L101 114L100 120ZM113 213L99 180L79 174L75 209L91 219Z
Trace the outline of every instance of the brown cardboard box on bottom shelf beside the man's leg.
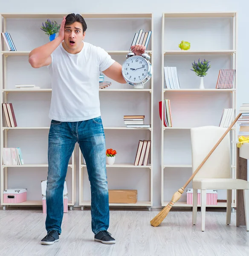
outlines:
M109 189L109 203L136 204L137 190Z

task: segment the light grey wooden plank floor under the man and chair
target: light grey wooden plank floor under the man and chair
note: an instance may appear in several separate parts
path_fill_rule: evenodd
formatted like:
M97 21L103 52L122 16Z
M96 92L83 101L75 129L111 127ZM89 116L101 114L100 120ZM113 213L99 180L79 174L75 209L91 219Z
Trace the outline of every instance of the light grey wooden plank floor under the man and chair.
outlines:
M1 256L248 256L249 232L226 225L226 212L206 212L206 231L192 226L191 211L171 210L159 227L150 220L159 209L111 209L110 229L116 244L93 241L90 210L64 214L60 241L45 246L45 216L41 209L0 209Z

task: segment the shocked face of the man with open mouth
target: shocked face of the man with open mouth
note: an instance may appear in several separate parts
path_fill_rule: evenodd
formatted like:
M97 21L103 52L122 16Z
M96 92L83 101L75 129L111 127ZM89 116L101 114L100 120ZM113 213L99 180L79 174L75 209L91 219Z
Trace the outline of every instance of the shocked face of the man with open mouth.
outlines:
M75 22L65 26L64 43L70 51L75 51L80 48L81 41L85 37L83 34L83 28L80 22Z

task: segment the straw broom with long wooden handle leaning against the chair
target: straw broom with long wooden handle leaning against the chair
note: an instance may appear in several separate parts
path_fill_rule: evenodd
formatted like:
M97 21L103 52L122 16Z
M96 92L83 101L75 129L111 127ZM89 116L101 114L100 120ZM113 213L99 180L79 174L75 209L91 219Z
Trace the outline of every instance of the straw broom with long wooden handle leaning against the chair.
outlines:
M214 145L214 147L211 149L211 151L208 153L208 155L205 157L205 159L202 161L202 163L197 167L195 172L191 175L191 177L188 179L188 181L185 183L183 187L181 187L177 192L174 193L174 195L171 198L171 201L166 205L157 215L151 220L151 225L153 227L157 227L167 216L168 212L171 210L172 206L181 198L182 193L184 192L184 189L186 186L188 186L188 183L194 178L194 176L197 174L197 172L201 169L203 164L208 160L208 157L211 156L211 154L214 152L215 148L220 144L220 142L224 139L226 134L231 130L231 128L234 126L234 124L237 122L237 120L240 118L241 113L237 115L235 120L232 122L232 124L229 126L229 128L226 130L226 132L222 135L220 140Z

